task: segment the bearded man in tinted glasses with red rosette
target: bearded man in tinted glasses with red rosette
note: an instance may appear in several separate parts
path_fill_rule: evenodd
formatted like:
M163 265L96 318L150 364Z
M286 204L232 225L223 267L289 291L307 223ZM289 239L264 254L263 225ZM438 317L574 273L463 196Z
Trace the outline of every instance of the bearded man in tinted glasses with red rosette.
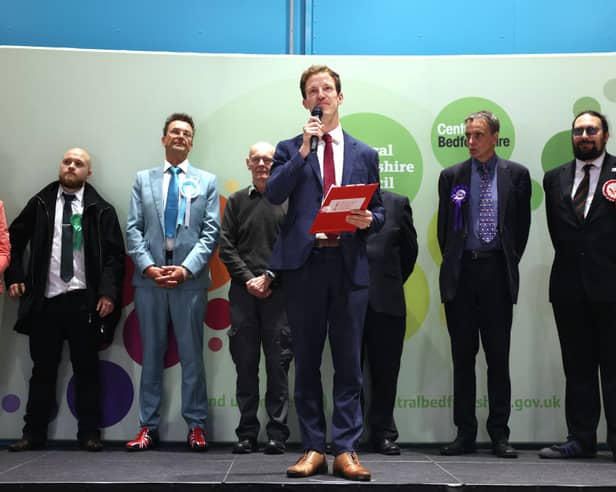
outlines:
M542 458L596 455L601 396L607 443L616 456L616 158L605 151L604 115L583 111L571 133L575 159L543 179L555 252L550 302L565 370L569 435L567 442L542 449Z

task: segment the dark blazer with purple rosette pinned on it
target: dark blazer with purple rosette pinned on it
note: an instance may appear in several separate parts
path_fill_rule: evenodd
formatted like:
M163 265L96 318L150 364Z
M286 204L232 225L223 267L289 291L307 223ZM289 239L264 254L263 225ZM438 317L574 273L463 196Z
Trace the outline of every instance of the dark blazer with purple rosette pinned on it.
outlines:
M497 158L496 179L498 190L498 233L507 264L507 283L511 301L518 299L518 263L526 248L530 229L530 174L521 164ZM460 279L460 265L468 234L468 197L462 204L463 226L454 228L455 205L451 192L458 185L470 190L471 160L466 160L441 171L438 183L438 242L443 255L440 271L442 302L456 296Z

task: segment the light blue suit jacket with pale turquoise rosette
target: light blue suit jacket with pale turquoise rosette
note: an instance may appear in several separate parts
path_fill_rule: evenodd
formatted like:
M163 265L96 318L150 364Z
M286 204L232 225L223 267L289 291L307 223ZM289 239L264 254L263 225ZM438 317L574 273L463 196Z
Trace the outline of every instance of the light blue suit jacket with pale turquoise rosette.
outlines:
M178 227L173 265L182 265L192 277L178 289L203 289L210 285L207 264L218 242L220 205L216 176L188 165L186 179L199 183L199 193L191 200L188 227ZM165 226L163 207L163 166L137 173L131 191L126 227L128 254L135 264L133 285L154 287L143 271L165 264Z

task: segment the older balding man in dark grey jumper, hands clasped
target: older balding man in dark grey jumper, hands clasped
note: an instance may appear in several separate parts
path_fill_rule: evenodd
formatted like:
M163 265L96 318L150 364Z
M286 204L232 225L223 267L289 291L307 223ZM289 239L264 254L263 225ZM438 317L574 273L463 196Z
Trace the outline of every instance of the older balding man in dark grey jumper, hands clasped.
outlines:
M274 147L258 142L250 147L246 166L252 184L233 193L222 220L220 258L231 275L229 349L237 370L236 398L240 423L233 453L257 451L260 424L259 360L265 354L266 454L282 454L289 437L288 377L291 362L289 325L276 274L267 270L274 241L287 211L286 201L273 205L264 195Z

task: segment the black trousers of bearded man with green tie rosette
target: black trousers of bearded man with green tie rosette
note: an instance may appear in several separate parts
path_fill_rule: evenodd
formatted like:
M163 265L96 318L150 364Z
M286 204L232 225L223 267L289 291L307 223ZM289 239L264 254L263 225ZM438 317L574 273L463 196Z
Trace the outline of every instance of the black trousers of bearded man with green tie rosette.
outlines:
M56 381L64 340L68 341L75 378L78 439L99 435L100 339L90 323L86 291L46 299L30 334L32 377L23 434L33 442L47 439L47 425L56 407Z

